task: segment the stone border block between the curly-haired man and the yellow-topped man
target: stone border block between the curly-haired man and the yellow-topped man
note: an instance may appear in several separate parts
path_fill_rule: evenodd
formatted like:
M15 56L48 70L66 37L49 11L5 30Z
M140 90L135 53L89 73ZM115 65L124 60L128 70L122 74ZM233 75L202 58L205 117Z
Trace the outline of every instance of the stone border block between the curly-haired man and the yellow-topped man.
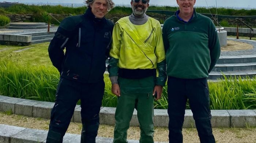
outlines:
M115 112L116 108L114 107L103 107L99 112L99 123L106 125L115 124Z

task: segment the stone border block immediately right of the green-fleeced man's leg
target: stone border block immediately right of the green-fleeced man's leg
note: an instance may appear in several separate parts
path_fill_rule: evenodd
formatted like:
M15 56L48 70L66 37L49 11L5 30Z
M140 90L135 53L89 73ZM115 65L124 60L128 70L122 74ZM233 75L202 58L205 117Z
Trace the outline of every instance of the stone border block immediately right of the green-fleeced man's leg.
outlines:
M229 128L230 115L227 110L211 110L211 125L213 128Z

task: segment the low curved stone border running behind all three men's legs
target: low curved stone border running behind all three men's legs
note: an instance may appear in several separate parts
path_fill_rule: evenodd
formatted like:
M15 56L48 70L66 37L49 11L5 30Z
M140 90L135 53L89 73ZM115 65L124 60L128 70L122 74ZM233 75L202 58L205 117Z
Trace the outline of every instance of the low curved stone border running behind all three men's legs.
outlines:
M50 112L54 103L26 100L7 96L0 96L0 111L10 111L14 114L25 115L30 117L41 117L50 119ZM75 108L72 122L81 123L80 105ZM114 125L114 113L116 108L102 107L99 113L100 123ZM211 110L212 127L256 127L256 110ZM167 110L154 109L154 125L156 127L168 127L169 118ZM131 126L139 126L137 112L133 112ZM185 111L185 120L183 128L194 128L195 121L191 110Z

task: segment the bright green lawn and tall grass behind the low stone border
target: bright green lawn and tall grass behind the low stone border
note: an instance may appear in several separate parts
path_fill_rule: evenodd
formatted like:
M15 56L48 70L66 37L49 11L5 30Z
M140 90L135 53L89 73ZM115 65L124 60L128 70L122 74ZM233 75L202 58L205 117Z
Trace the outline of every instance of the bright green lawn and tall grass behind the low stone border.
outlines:
M32 46L0 45L0 95L54 102L59 72L48 57L49 43ZM19 53L13 51L31 47ZM105 93L102 106L116 107L117 97L111 93L111 82L104 75ZM211 109L256 109L256 77L225 78L209 82ZM155 108L167 109L167 86ZM187 107L188 108L188 107Z

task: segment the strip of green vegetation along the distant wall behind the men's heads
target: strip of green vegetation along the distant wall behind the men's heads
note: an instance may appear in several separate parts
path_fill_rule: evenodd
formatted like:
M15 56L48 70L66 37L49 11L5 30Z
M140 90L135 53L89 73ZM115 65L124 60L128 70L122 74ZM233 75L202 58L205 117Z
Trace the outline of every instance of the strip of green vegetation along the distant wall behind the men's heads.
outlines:
M86 7L63 7L61 5L50 6L50 5L13 5L8 8L0 8L0 13L10 14L10 13L20 13L20 14L37 14L47 11L48 13L54 14L69 14L78 15L84 13ZM165 11L177 11L177 7L170 6L154 6L151 5L148 10L165 10ZM204 7L196 7L196 11L199 13L212 13L216 14L216 8L212 7L210 10ZM256 15L256 9L245 10L245 9L231 9L231 8L218 8L219 15L236 15L236 16L249 16ZM132 9L129 7L117 6L112 9L109 14L130 14Z

